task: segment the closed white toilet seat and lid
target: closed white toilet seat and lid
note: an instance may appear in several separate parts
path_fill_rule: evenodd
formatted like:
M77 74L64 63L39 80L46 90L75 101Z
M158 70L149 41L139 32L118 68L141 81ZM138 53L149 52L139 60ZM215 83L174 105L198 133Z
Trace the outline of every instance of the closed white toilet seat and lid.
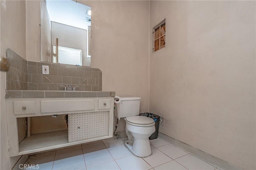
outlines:
M137 126L137 127L151 127L155 125L155 122L153 119L149 117L143 117L143 116L131 116L126 117L126 123L129 125Z

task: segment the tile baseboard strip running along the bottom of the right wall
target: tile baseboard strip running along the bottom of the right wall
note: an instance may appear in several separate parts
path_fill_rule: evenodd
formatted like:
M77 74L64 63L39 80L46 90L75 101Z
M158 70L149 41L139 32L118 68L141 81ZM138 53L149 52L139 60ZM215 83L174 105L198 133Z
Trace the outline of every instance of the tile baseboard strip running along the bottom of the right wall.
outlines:
M167 136L166 134L162 134L161 132L159 132L158 136L160 138L174 144L174 146L177 146L178 148L181 148L181 149L185 150L186 152L189 152L190 154L208 162L209 164L216 166L217 168L220 168L222 170L241 170L240 168L233 166L233 165L229 164L228 162L220 160L220 159L218 159L210 154L207 154L206 152L198 150L197 148L194 148L193 146L190 146L186 143L180 142L179 140L172 138L170 136Z

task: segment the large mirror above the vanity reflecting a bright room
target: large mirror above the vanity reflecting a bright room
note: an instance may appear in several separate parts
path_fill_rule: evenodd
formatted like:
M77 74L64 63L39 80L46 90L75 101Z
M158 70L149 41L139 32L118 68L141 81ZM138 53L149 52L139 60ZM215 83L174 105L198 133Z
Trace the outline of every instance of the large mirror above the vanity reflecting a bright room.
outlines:
M41 1L41 61L90 67L91 7L72 0Z

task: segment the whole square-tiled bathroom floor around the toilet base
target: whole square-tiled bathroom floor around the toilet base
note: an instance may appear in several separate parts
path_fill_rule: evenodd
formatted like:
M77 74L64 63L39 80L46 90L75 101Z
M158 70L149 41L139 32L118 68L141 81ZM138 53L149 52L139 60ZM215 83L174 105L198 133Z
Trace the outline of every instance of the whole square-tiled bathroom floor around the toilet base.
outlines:
M124 146L126 139L36 154L25 164L39 164L40 170L219 170L161 138L150 140L151 156L138 158Z

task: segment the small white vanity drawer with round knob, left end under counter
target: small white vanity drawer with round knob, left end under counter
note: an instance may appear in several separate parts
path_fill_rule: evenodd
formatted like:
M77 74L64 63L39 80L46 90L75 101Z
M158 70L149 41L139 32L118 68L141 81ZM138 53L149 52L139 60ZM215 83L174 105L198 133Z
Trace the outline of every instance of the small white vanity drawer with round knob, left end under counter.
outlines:
M14 115L36 114L35 101L14 101Z

